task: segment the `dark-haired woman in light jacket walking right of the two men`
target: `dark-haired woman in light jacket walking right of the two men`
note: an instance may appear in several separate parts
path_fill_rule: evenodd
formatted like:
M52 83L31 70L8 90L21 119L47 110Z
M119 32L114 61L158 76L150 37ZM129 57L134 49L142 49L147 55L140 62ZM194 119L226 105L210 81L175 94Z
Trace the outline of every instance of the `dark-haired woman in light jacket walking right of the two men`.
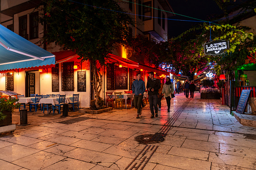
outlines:
M167 103L167 112L170 112L171 105L171 94L174 93L174 85L171 83L171 79L169 77L166 78L166 82L163 86L162 94L164 95Z

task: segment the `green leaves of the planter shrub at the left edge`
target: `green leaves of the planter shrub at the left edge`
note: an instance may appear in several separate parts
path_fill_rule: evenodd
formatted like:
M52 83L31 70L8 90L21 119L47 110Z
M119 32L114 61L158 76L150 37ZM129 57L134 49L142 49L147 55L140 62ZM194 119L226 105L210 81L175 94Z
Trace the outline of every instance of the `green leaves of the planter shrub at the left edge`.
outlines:
M18 101L19 99L15 98L11 98L10 100L7 100L6 98L0 98L0 120L4 120L6 118L6 115L3 114L4 111L13 111L14 108L20 107L20 104L16 103Z

